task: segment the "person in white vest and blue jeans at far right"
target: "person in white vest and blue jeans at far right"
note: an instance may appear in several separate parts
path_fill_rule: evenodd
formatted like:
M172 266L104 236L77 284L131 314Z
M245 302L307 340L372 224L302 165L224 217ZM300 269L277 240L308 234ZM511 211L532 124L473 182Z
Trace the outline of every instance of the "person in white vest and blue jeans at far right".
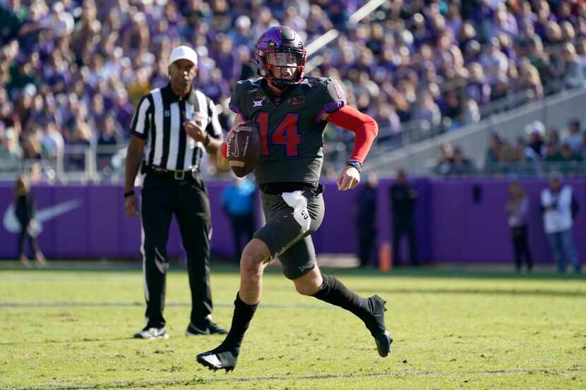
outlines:
M542 190L541 205L544 229L554 252L558 271L566 272L567 262L573 264L574 271L580 272L580 259L572 237L573 219L578 214L579 205L570 185L562 185L561 173L553 172L549 187Z

